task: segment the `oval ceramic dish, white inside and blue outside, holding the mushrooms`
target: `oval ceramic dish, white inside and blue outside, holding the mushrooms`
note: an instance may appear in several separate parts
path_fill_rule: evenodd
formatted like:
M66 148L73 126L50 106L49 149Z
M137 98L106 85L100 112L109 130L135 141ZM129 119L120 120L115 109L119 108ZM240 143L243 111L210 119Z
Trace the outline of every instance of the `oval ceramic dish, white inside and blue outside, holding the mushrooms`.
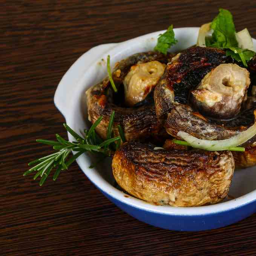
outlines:
M185 49L196 43L199 28L174 29L178 44L170 51ZM150 51L157 37L164 31L143 35L123 43L102 44L83 54L66 72L57 87L54 103L64 115L66 123L76 132L90 126L87 120L85 91L107 75L106 58L111 66L129 55ZM254 48L256 40L253 39ZM69 134L69 140L74 138ZM201 207L171 207L152 205L113 187L111 160L94 169L89 166L95 159L84 154L77 163L87 178L114 204L148 224L170 230L199 231L224 227L256 212L256 167L235 170L229 195L215 205Z

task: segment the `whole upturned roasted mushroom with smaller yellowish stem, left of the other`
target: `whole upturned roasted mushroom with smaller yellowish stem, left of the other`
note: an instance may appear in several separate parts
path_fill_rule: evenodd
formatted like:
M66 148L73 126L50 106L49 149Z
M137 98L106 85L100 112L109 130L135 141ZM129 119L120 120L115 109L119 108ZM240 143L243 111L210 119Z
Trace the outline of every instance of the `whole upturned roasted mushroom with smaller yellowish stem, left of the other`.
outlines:
M103 116L96 127L101 138L106 139L113 111L113 133L118 135L117 125L120 125L127 141L145 141L149 137L161 141L166 137L164 120L156 117L153 90L171 57L158 52L134 54L117 63L112 72L117 93L113 91L109 77L87 90L89 120L94 123Z

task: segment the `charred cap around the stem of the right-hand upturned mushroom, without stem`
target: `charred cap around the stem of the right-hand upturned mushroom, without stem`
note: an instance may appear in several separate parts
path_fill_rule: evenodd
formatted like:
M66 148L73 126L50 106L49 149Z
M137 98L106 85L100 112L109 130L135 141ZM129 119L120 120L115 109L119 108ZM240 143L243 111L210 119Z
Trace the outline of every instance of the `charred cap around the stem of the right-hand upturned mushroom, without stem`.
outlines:
M253 110L242 109L231 120L205 117L190 103L189 94L213 68L231 60L216 48L192 47L168 63L155 92L156 114L166 119L166 131L178 138L184 131L199 139L227 139L254 123ZM247 144L256 140L254 136Z

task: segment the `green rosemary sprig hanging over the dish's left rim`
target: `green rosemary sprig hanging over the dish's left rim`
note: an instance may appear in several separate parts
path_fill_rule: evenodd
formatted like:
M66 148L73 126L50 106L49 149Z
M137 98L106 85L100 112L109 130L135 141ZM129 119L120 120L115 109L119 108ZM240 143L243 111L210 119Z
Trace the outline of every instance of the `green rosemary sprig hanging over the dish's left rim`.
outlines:
M32 172L36 172L34 179L37 179L39 176L40 186L43 185L44 181L51 173L53 169L56 168L53 179L54 181L58 178L59 174L63 170L67 170L68 167L85 152L99 153L104 158L110 156L112 148L118 149L121 143L121 136L112 138L112 125L113 119L115 117L115 112L112 112L109 120L109 126L107 129L107 139L103 141L95 132L95 128L102 120L102 116L95 121L95 123L90 127L89 130L84 130L84 138L78 135L74 130L72 130L67 124L63 124L67 132L69 132L76 141L67 141L62 138L60 135L56 134L57 141L51 141L48 139L37 139L39 143L53 146L54 150L57 152L52 153L48 156L43 156L38 158L28 165L33 166L27 170L23 176L26 176ZM115 144L117 141L117 144ZM76 152L73 156L69 157L71 152Z

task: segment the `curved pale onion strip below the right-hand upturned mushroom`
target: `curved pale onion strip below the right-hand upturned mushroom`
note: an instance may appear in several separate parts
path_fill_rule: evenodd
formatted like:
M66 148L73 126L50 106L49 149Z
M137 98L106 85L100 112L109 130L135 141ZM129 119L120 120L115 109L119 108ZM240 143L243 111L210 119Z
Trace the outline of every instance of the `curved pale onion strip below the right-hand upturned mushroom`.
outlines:
M256 134L256 123L254 123L247 130L235 135L229 139L221 139L216 141L210 141L207 139L198 139L189 133L178 132L178 136L187 141L190 146L195 147L196 149L205 149L210 151L218 150L228 150L231 147L239 146L248 139L252 138Z

